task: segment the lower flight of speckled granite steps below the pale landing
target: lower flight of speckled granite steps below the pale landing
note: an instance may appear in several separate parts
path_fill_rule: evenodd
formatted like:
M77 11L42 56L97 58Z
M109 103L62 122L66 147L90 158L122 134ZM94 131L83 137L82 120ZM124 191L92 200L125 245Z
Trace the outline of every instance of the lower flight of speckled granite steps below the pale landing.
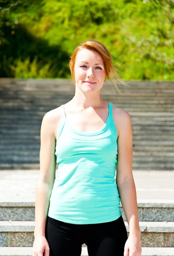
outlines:
M174 256L174 204L139 203L138 209L143 247L142 256ZM0 203L1 256L32 255L35 228L34 210L34 203ZM121 211L129 234L122 207ZM82 247L81 255L87 256L85 244Z

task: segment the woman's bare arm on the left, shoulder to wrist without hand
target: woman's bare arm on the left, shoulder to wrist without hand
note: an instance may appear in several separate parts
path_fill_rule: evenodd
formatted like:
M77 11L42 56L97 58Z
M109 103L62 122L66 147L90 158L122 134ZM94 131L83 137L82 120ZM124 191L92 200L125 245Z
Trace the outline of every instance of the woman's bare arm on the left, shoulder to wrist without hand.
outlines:
M49 198L55 180L55 127L52 119L51 113L48 112L41 124L40 173L35 200L35 236L45 236Z

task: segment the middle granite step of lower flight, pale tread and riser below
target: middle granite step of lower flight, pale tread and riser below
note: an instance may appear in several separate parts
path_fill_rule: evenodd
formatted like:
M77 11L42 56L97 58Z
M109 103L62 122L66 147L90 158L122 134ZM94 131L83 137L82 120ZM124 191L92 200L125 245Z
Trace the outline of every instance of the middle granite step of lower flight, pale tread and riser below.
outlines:
M125 226L129 232L126 221ZM174 247L174 222L140 221L139 226L142 247ZM1 246L32 247L34 229L34 221L0 221Z

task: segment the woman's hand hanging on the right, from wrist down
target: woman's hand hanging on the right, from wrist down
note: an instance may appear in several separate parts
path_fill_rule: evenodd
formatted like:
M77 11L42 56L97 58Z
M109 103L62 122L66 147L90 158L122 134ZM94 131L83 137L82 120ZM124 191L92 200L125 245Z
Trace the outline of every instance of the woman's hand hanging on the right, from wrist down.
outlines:
M140 236L129 235L128 240L125 243L124 256L141 256L142 247Z

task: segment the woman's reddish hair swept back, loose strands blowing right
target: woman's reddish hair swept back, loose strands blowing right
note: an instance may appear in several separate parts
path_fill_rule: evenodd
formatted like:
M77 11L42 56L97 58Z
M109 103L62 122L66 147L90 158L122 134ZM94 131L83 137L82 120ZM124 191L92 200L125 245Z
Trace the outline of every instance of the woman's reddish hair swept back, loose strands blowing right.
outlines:
M91 52L96 52L98 53L98 57L101 57L102 61L103 61L103 65L104 65L104 70L105 70L105 79L111 79L113 81L114 86L116 87L116 89L119 91L116 82L115 82L115 78L118 79L119 81L121 81L121 79L119 78L119 76L117 75L115 68L113 66L113 62L112 62L112 57L110 55L110 52L108 51L108 49L104 46L104 44L100 43L99 41L96 40L88 40L85 41L84 43L78 45L73 54L71 55L71 59L70 59L70 71L73 77L73 81L74 84L76 83L75 81L75 61L76 61L76 57L78 55L78 52L80 52L83 49L87 49L90 50ZM83 51L85 52L85 51ZM104 81L105 81L104 79ZM122 82L122 81L121 81Z

